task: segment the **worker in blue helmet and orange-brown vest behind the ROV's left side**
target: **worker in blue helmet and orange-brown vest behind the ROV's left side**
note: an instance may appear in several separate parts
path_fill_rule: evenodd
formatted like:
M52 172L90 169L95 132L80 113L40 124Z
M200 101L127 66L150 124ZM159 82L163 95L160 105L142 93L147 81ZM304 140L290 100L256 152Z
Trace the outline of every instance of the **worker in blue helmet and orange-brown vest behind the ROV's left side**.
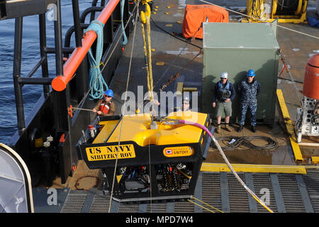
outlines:
M103 99L92 110L98 116L112 116L116 111L116 105L111 101L113 98L113 91L108 89L104 95Z

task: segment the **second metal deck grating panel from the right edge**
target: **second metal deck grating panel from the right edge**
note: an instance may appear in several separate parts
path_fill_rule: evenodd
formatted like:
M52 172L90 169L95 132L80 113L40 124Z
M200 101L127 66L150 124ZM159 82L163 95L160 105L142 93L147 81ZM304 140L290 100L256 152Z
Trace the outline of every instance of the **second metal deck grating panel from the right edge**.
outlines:
M303 199L298 188L296 175L280 174L278 175L281 194L287 213L303 213L306 212Z

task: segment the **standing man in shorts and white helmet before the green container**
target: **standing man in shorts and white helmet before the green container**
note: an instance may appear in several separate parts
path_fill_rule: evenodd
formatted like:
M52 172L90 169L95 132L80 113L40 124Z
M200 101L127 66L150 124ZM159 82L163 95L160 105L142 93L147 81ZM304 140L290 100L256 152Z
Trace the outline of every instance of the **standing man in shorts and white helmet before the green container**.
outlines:
M232 116L232 100L235 98L235 94L233 84L228 81L228 73L223 72L213 92L213 108L216 107L217 109L217 133L220 133L220 121L223 112L225 112L225 129L231 131L229 118Z

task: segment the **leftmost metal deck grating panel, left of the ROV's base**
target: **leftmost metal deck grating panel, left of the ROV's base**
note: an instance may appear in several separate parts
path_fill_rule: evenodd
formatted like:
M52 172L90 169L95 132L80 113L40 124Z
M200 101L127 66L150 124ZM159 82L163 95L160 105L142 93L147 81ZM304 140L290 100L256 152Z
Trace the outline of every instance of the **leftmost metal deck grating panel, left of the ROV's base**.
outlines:
M87 194L68 194L61 213L80 213Z

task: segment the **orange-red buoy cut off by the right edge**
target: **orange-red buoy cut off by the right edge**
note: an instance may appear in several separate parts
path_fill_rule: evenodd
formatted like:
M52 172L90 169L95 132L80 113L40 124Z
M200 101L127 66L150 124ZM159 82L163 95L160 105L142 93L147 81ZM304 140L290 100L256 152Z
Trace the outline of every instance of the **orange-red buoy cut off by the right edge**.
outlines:
M319 54L308 59L303 79L303 95L310 99L319 99Z

